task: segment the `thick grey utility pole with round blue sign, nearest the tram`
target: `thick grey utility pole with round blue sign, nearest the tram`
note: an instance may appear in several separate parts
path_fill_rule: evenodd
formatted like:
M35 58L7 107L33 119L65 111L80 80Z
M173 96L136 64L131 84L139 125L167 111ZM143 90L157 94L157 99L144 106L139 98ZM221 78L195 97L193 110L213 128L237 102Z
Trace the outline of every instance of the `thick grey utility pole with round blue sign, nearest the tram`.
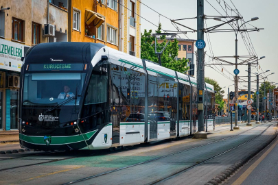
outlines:
M197 40L204 40L204 0L197 0ZM194 138L207 138L204 132L204 85L205 65L204 48L197 51L197 97L198 97L198 133Z

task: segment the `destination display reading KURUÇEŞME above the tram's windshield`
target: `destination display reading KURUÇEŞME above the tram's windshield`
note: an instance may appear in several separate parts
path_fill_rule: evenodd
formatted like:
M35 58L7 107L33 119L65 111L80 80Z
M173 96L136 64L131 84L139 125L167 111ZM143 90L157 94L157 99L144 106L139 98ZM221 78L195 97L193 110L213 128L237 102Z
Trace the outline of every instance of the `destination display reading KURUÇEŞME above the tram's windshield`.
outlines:
M28 71L82 71L84 64L30 64Z

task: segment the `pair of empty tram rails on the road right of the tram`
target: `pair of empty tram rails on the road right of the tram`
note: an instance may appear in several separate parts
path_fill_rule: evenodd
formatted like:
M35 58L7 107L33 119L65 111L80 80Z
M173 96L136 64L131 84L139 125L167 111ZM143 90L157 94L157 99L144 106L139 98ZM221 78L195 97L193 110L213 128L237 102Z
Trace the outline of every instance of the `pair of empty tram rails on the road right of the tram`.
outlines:
M268 125L268 127L270 127L271 125L272 125L272 124ZM102 175L107 175L107 174L109 174L109 173L115 173L115 172L117 172L117 171L121 171L121 170L128 169L128 168L131 168L131 167L136 167L136 166L139 166L139 165L141 165L141 164L147 164L147 163L150 163L150 162L154 162L154 161L156 161L156 160L160 160L160 159L163 159L163 158L167 158L167 157L170 157L170 156L174 156L174 155L176 155L176 154L178 154L178 153L183 153L183 152L185 152L185 151L189 151L189 150L192 150L192 149L197 149L197 148L200 148L200 147L204 147L204 146L207 146L207 145L211 145L211 144L213 144L213 143L219 143L220 141L227 140L227 139L229 139L229 138L233 138L233 137L235 137L235 136L239 136L239 135L241 135L241 134L244 134L244 133L246 133L246 132L248 132L248 131L250 131L250 130L253 130L253 129L255 129L256 127L259 127L259 126L260 126L260 125L256 125L255 127L252 127L251 129L248 129L248 130L246 130L246 131L244 131L244 132L241 132L241 133L239 133L239 134L235 134L235 135L232 135L232 136L229 136L229 137L226 137L226 138L222 138L222 139L220 139L220 140L216 140L216 141L213 141L213 142L211 142L211 143L206 143L206 144L199 145L199 146L196 146L196 147L192 147L192 148L189 148L189 149L184 149L184 150L182 150L182 151L177 151L177 152L174 152L174 153L170 153L170 154L167 154L167 155L165 155L165 156L160 156L160 157L158 157L158 158L154 158L154 159L151 159L151 160L146 160L146 161L144 161L144 162L139 162L139 163L136 163L136 164L132 164L132 165L129 165L129 166L127 166L127 167L121 167L121 168L119 168L119 169L114 169L114 170L111 170L111 171L106 171L106 172L104 172L104 173L99 173L99 174L97 174L97 175L92 175L92 176L89 176L89 177L84 177L84 178L81 178L80 180L74 180L74 181L67 182L67 183L62 184L62 185L66 185L66 184L76 184L76 183L78 183L78 182L84 182L84 181L86 181L86 180L91 180L91 179L93 179L93 178L100 177L100 176L102 176ZM265 129L262 133L260 133L259 135L255 136L255 138L257 138L258 136L261 136L261 135L268 129L268 127L266 127L266 129ZM242 146L242 145L245 145L246 143L250 142L251 140L253 140L253 139L255 139L255 138L251 138L250 140L247 140L246 142L244 142L244 143L242 143L242 144L240 144L240 145L238 145L238 146L235 146L235 147L233 147L233 148L231 148L231 149L228 149L227 151L224 151L224 152L222 152L222 153L218 153L216 156L212 156L211 158L208 158L208 159L206 159L206 160L203 160L202 162L200 162L200 163L198 163L198 164L194 164L194 165L192 165L191 167L187 167L186 169L183 169L182 171L187 171L187 170L192 169L192 168L194 168L194 167L196 167L196 166L198 166L198 165L200 165L200 164L203 164L204 162L207 162L208 160L211 160L211 159L213 159L213 158L216 158L216 157L218 157L218 156L221 156L221 155L224 154L224 153L227 153L227 152L229 152L229 151L231 151L231 150L233 150L233 149L236 149L236 148L238 148L238 147L240 147L240 146ZM167 176L167 177L170 178L170 177L172 177L173 175L177 175L178 173L182 173L182 172L181 172L181 171L178 171L178 172L176 172L176 173L174 173L174 174L171 174L171 175L169 175L169 176ZM161 182L161 181L163 181L163 180L166 180L167 177L165 177L165 178L159 180L158 182ZM158 182L157 182L157 181L156 181L156 182L152 182L151 184L157 184Z

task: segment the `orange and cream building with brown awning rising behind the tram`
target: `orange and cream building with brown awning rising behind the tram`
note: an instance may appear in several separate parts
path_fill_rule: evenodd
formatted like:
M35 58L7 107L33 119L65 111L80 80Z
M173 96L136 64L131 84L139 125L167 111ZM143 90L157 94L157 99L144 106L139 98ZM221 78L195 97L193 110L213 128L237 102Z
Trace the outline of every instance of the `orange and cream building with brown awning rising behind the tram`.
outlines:
M69 0L69 7L70 42L101 43L140 58L139 1Z

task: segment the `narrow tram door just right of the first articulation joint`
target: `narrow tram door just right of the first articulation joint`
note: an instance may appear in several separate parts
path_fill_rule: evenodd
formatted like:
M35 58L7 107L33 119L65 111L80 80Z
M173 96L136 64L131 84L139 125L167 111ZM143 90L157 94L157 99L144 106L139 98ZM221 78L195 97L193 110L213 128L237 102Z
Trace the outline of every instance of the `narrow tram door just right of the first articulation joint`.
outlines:
M151 92L151 97L149 101L151 105L149 106L150 114L150 139L157 138L157 101L158 101L158 85L157 82L150 82L149 91Z

